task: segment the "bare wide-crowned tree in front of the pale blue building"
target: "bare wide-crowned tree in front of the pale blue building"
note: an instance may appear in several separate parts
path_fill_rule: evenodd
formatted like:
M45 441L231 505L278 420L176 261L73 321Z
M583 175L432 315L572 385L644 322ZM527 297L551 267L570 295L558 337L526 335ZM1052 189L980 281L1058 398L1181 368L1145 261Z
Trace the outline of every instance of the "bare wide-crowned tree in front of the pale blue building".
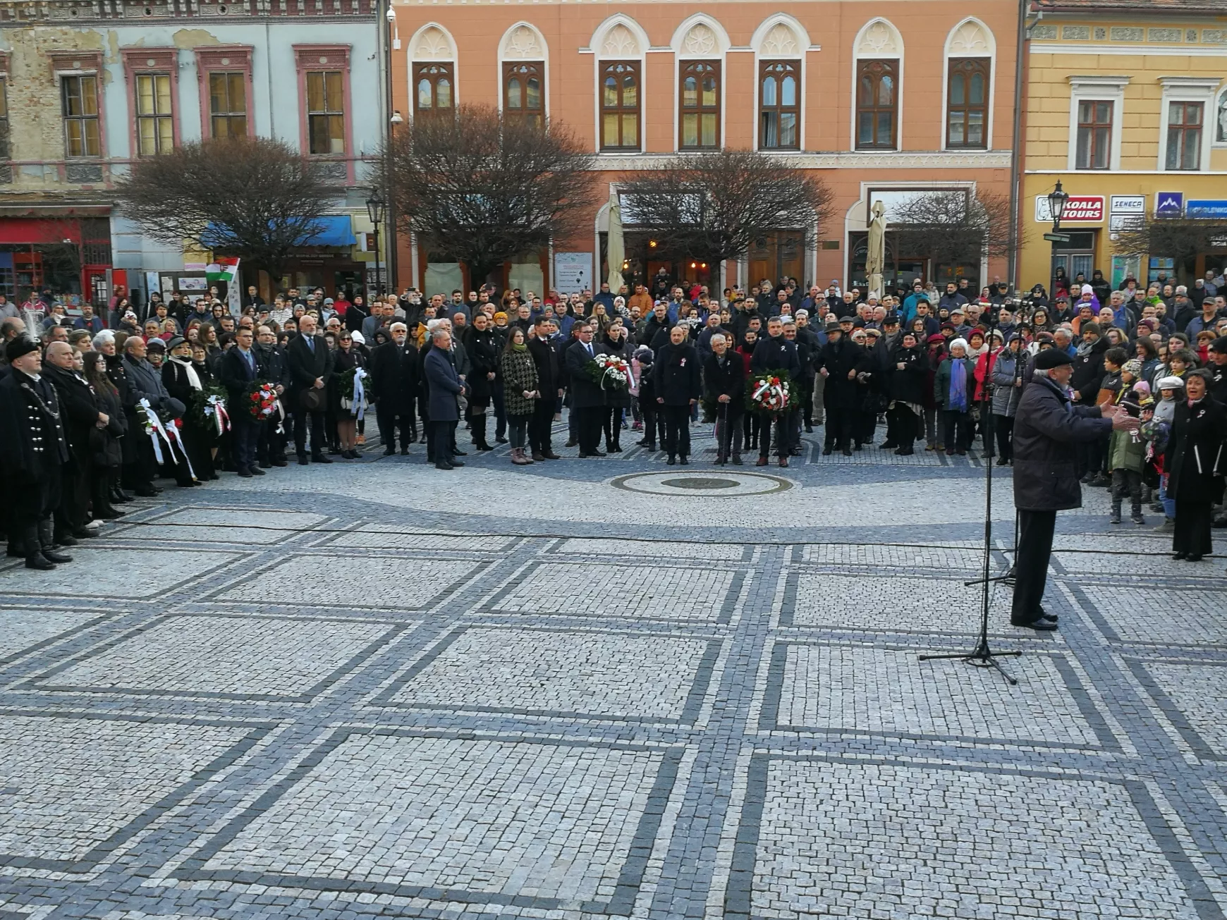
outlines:
M184 144L137 159L115 188L150 237L237 255L274 277L310 245L339 194L309 159L267 137Z

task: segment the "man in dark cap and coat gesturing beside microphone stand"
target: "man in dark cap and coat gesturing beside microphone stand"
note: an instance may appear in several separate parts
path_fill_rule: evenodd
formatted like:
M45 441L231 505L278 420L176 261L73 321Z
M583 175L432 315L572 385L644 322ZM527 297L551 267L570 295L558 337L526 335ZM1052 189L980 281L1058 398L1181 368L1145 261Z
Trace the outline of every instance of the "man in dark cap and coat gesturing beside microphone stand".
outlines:
M1014 504L1018 512L1017 580L1010 622L1050 632L1056 615L1042 601L1053 553L1056 512L1082 507L1077 445L1140 422L1119 407L1079 406L1070 401L1074 361L1059 348L1036 356L1036 377L1023 389L1014 421Z

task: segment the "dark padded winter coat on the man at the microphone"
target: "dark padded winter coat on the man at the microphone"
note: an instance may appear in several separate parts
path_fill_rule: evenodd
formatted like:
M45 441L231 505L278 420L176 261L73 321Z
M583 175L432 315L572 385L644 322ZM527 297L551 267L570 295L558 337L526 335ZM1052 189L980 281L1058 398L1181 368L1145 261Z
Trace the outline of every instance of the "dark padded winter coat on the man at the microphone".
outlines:
M1099 440L1112 421L1075 406L1048 377L1022 388L1014 418L1014 504L1025 512L1082 507L1077 445Z

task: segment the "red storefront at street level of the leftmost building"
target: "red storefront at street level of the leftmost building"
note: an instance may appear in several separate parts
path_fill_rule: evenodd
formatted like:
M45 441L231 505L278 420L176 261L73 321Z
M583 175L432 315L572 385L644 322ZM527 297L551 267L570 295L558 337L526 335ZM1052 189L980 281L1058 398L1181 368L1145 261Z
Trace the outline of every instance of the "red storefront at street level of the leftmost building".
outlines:
M21 301L49 288L69 299L106 301L109 215L108 207L0 211L0 293Z

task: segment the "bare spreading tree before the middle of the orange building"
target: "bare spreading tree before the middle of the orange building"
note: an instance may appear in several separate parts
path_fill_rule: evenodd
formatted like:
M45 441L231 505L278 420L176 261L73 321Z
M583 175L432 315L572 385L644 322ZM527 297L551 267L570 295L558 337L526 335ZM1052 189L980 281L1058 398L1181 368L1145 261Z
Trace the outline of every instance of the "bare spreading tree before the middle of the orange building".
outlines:
M712 265L740 259L773 231L814 248L831 217L831 191L811 171L752 150L671 157L621 186L622 220L648 229L658 249Z

